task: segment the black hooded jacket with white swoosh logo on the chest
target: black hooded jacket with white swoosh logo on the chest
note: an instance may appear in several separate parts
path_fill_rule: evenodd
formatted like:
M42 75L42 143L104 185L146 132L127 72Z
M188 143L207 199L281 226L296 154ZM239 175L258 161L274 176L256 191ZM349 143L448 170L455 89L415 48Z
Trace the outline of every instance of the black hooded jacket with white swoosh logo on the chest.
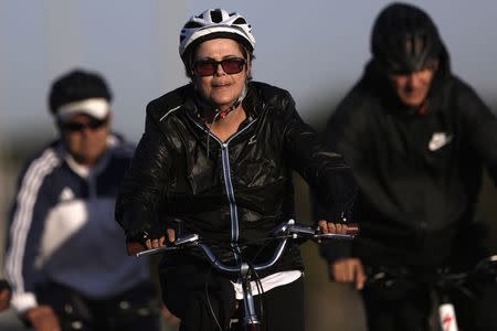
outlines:
M327 140L359 184L352 254L366 263L437 265L477 245L483 167L497 180L496 117L451 73L446 52L425 105L402 106L370 63L328 121Z

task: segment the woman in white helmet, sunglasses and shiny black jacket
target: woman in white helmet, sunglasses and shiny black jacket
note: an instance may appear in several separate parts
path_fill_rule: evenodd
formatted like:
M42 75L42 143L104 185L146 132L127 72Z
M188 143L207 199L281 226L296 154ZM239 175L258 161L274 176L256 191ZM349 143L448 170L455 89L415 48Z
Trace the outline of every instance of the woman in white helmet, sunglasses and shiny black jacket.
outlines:
M129 253L135 243L163 246L181 231L200 234L224 263L266 260L274 246L263 239L294 216L292 170L334 206L332 222L319 222L322 231L347 231L342 221L356 194L349 167L300 119L288 92L251 81L254 46L244 17L222 9L193 15L181 29L179 53L191 83L148 105L117 201ZM303 268L292 244L258 275L267 330L304 330ZM160 279L180 330L225 329L236 279L183 253L163 257Z

